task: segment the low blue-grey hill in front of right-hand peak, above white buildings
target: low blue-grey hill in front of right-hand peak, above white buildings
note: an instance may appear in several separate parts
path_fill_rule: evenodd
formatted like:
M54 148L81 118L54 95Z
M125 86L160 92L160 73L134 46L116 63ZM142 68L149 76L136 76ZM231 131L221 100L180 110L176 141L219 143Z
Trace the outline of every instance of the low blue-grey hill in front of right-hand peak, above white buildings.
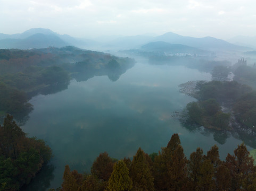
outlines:
M194 47L180 45L180 44L170 44L168 42L157 41L150 42L141 47L144 51L158 51L158 52L166 52L166 53L184 53L184 54L201 54L205 53L204 50L200 50Z

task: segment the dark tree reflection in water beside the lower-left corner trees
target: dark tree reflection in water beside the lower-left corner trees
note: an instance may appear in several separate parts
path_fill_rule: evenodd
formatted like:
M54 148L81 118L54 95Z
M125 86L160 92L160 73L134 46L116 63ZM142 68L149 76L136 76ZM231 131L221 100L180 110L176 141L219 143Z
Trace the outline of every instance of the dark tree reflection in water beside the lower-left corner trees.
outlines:
M55 167L52 164L46 164L42 167L40 172L37 173L34 179L31 180L29 185L23 186L20 191L45 191L49 188L51 181L54 178L53 171Z

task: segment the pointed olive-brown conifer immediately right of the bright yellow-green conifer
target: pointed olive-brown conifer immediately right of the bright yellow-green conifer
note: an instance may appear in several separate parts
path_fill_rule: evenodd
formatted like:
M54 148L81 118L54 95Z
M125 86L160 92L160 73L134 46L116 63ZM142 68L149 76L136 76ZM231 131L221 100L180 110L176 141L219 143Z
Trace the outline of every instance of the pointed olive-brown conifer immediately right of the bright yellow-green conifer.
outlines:
M151 191L154 190L154 178L151 174L149 164L145 158L145 153L139 147L131 162L131 180L133 180L133 190Z

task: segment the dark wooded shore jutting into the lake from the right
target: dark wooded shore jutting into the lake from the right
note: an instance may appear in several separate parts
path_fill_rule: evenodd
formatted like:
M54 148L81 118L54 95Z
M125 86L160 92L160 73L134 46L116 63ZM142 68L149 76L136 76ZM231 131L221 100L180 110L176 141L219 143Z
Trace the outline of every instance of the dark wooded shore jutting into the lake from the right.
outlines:
M232 130L238 122L240 130L256 133L256 92L250 86L236 81L200 81L192 96L199 101L186 106L186 123ZM232 115L235 121L231 120Z

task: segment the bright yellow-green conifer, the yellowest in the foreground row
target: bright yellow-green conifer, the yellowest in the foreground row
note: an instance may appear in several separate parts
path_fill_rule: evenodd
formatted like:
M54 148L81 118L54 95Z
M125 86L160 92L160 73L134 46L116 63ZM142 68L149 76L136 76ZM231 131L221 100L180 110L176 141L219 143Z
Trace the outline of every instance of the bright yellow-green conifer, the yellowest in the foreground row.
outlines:
M113 172L108 181L109 191L129 191L133 187L133 182L129 177L129 170L125 162L120 160L114 164Z

